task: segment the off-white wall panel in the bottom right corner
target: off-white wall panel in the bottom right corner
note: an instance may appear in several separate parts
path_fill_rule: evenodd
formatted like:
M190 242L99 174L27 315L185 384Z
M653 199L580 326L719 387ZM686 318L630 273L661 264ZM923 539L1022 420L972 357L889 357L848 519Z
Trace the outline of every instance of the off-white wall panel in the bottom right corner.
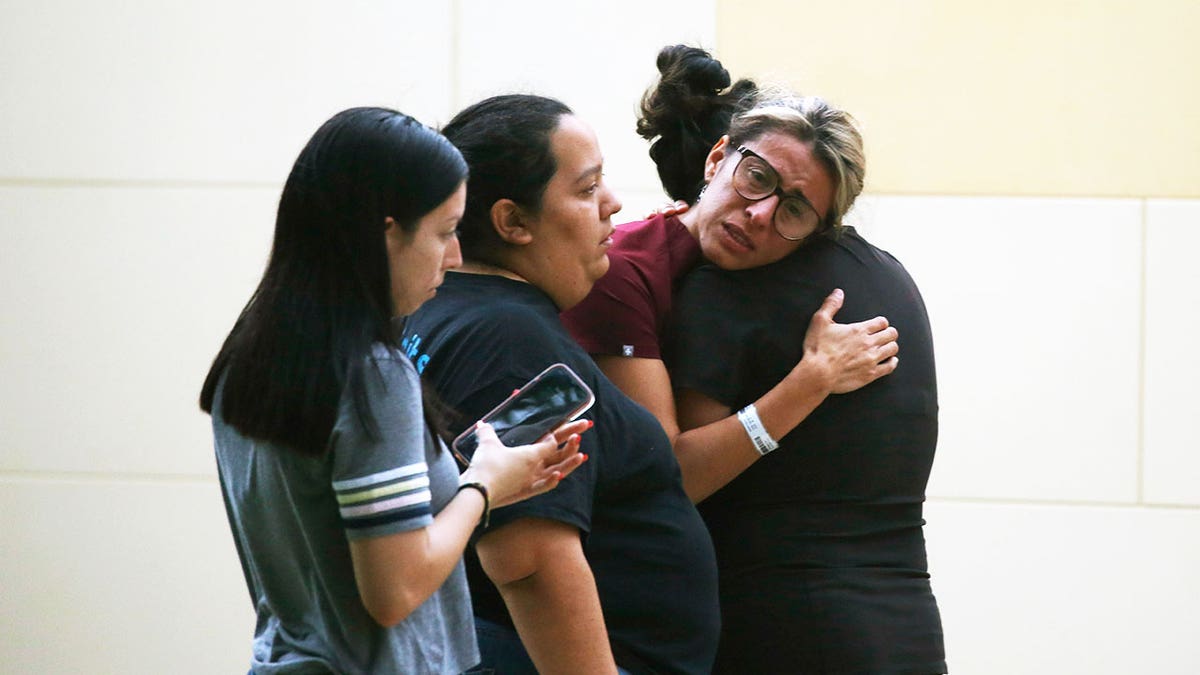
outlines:
M950 673L1200 673L1200 510L931 501Z

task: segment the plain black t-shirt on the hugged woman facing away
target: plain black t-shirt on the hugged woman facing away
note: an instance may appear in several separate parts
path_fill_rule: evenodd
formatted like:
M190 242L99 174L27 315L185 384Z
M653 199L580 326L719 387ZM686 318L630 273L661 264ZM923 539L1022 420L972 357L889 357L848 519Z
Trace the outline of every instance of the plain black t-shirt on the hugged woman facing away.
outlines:
M677 300L668 366L738 410L803 354L812 313L846 292L836 321L886 316L895 372L829 396L774 453L701 504L721 575L721 673L941 673L922 506L937 443L929 317L889 253L846 228L782 261L706 265Z

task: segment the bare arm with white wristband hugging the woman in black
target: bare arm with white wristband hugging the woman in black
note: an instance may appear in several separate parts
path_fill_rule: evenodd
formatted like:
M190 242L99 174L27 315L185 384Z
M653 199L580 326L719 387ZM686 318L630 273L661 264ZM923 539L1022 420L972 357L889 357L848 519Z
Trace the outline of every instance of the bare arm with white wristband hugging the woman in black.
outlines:
M895 370L896 330L883 317L835 323L841 303L841 291L826 298L805 334L804 357L755 401L773 438L796 429L829 394L853 392ZM684 489L694 502L721 489L761 456L728 406L696 392L680 392L676 398L661 360L602 357L596 363L671 435ZM671 405L665 402L668 399Z

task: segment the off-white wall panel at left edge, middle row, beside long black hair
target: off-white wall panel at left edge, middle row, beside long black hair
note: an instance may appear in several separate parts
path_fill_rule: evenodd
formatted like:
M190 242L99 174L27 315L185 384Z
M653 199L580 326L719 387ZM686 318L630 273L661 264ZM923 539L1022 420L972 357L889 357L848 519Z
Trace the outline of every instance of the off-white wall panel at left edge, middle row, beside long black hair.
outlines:
M214 474L197 396L277 201L0 187L0 471Z

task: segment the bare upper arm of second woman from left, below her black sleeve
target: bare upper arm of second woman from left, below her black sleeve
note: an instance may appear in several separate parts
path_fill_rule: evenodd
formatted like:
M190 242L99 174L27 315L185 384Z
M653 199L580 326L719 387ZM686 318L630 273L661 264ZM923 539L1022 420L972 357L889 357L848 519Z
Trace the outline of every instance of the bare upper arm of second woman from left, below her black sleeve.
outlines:
M539 673L617 671L575 526L522 518L485 534L475 550Z

